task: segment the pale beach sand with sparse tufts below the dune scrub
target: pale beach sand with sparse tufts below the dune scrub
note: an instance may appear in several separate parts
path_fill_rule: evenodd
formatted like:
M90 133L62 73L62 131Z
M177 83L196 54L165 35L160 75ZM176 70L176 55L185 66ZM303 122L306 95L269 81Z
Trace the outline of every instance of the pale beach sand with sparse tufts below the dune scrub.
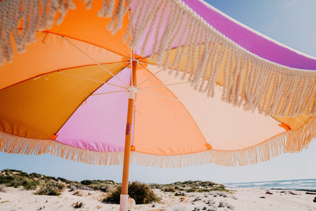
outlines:
M0 192L0 210L118 210L115 204L102 203L106 193L95 190L66 189L62 195L34 195L34 190L4 188ZM77 195L74 195L74 192ZM269 193L271 194L269 194ZM133 210L316 210L313 199L306 191L261 190L235 188L227 192L191 192L184 196L174 196L174 192L155 190L161 203L136 205ZM264 197L264 198L260 198ZM74 203L82 202L82 208L75 209ZM223 206L223 207L220 207Z

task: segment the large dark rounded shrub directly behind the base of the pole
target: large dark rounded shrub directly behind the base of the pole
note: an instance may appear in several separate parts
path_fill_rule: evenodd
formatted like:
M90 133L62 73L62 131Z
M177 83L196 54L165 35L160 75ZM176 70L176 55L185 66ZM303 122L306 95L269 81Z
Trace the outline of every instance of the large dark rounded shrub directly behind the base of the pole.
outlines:
M103 202L120 203L122 186L113 190ZM155 192L147 185L139 181L133 181L128 184L128 195L135 200L137 204L159 202L160 198L155 195Z

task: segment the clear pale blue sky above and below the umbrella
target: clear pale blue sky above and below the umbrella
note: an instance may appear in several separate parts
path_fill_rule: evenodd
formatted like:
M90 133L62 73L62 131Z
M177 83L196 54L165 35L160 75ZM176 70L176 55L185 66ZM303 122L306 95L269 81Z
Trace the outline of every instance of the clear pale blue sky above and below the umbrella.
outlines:
M304 54L316 57L315 0L208 0L218 10L254 30ZM302 3L304 2L304 3ZM316 179L316 141L302 153L284 154L250 166L225 167L214 164L184 168L152 168L131 164L130 181L168 184L203 180L216 183ZM98 166L71 162L53 155L12 155L0 153L0 169L82 181L122 180L122 165Z

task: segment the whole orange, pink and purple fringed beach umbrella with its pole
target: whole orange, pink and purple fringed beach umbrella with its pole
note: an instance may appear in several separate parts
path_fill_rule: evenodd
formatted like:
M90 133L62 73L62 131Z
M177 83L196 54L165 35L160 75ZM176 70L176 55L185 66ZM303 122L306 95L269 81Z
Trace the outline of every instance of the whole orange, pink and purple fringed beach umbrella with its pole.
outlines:
M316 58L200 0L0 1L0 151L236 166L315 137ZM126 122L127 120L127 122Z

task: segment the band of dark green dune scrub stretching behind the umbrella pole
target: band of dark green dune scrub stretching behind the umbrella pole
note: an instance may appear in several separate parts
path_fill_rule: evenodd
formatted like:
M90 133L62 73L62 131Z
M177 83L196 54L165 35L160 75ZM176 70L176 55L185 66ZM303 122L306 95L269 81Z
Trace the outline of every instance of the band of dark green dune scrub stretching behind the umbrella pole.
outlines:
M5 186L14 188L25 188L34 190L35 195L60 195L65 188L73 192L73 195L81 197L80 190L100 190L106 192L104 203L119 203L121 185L110 180L83 180L69 181L61 177L47 177L37 173L27 174L21 170L5 169L0 171L0 186L4 191ZM183 197L189 192L227 192L225 186L214 184L210 181L183 181L173 184L142 184L134 181L128 186L128 195L135 199L137 204L159 203L161 199L155 195L153 189L159 189L163 192L170 192L174 196ZM83 204L74 205L74 208L80 208Z

